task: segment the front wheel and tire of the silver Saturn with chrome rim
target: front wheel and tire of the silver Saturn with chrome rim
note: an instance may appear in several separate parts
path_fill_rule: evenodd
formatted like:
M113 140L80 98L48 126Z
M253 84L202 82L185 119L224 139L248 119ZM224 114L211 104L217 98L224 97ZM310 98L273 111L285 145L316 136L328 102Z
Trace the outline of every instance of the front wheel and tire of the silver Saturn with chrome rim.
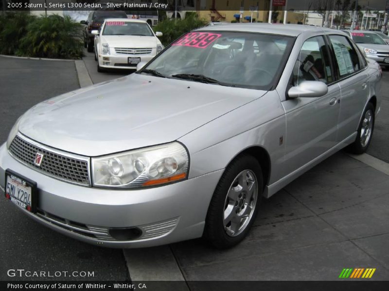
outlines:
M261 165L254 157L245 154L230 163L216 186L205 220L204 238L212 246L229 248L246 237L258 213L263 185Z

